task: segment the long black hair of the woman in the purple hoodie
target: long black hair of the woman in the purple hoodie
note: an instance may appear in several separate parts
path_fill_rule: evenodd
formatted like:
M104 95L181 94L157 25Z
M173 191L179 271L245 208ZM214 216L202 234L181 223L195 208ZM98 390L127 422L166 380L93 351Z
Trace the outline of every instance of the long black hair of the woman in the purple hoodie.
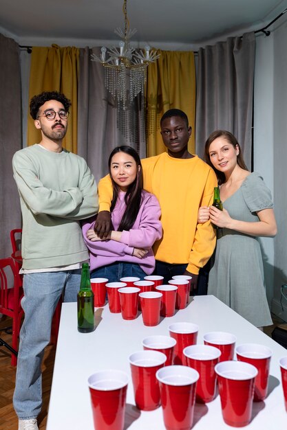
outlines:
M123 214L123 218L120 220L120 225L118 226L118 231L123 231L131 229L133 227L136 217L138 216L138 211L140 210L140 203L142 201L142 163L140 162L140 157L138 156L138 152L131 148L131 146L117 146L114 150L111 151L111 155L109 156L109 176L111 177L111 159L118 152L125 152L125 154L133 157L134 161L136 161L136 166L140 166L139 169L136 170L136 179L133 183L129 185L127 188L127 192L125 194L125 204L127 207L125 208L125 212ZM118 200L118 185L111 177L111 182L113 184L113 199L111 201L111 212L113 212L114 207L116 206L116 201Z

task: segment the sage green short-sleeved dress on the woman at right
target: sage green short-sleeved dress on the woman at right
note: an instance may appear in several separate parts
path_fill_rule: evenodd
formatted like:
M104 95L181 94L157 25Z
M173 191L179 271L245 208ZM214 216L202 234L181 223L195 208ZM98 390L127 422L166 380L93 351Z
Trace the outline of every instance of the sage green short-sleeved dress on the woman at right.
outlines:
M256 212L273 207L262 177L253 172L223 203L231 218L255 223ZM264 286L258 238L231 229L217 229L208 294L213 294L257 327L272 323Z

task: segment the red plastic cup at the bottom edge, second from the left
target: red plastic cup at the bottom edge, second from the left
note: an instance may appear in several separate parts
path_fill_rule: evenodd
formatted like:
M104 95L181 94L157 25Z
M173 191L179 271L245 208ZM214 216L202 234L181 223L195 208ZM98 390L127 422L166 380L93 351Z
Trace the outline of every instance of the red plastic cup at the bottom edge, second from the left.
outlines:
M193 425L195 387L199 374L191 367L173 365L156 372L164 426L168 430L190 430Z

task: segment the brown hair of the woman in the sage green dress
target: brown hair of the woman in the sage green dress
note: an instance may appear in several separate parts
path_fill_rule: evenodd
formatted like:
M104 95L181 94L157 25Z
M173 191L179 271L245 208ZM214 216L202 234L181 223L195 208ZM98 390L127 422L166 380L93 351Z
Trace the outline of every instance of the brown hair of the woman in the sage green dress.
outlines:
M211 135L209 135L209 137L207 138L207 140L205 142L204 159L205 159L206 163L209 164L209 166L211 166L213 168L213 170L215 171L215 174L216 174L217 179L218 179L218 183L219 183L219 185L221 185L222 183L225 182L225 174L223 172L220 172L219 170L215 169L215 167L213 166L213 163L211 163L211 159L209 157L209 147L211 146L213 140L217 139L217 137L224 137L224 139L226 139L228 144L231 144L233 146L233 148L235 148L235 149L236 149L236 146L238 146L239 154L237 155L237 164L243 170L248 170L248 168L246 167L246 164L244 163L240 144L237 142L236 137L232 133L230 133L230 131L226 131L226 130L215 130L215 131L213 131L213 133L211 133Z

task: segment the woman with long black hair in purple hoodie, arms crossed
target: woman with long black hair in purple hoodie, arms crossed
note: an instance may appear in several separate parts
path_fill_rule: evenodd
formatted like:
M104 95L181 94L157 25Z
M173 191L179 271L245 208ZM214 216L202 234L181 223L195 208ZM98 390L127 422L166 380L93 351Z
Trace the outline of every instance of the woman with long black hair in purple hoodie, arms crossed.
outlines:
M160 205L156 196L142 189L140 157L131 146L114 148L109 156L109 175L113 229L101 239L94 223L83 225L91 278L107 278L109 282L125 276L142 279L155 267L151 247L162 237Z

